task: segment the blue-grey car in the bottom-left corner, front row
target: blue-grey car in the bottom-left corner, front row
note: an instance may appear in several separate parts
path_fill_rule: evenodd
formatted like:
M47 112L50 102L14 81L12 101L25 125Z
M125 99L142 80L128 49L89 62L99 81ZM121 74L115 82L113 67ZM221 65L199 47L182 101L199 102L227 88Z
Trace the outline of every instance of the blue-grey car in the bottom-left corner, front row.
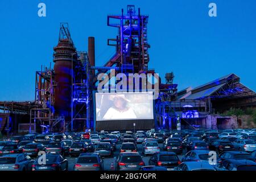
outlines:
M0 171L31 171L35 161L26 154L0 156Z

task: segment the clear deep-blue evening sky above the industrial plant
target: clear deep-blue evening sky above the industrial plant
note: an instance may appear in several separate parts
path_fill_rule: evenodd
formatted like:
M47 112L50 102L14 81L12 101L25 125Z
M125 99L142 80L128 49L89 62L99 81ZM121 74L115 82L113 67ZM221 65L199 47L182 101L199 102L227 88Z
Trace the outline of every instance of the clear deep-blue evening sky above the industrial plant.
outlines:
M40 2L46 3L45 18L38 16ZM217 4L216 18L208 16L210 2ZM255 0L9 0L0 1L0 100L34 99L35 71L52 62L60 22L69 23L79 51L95 36L96 65L104 64L115 51L107 39L117 33L106 26L107 15L120 14L127 5L149 15L149 68L163 80L173 71L180 90L236 73L256 90Z

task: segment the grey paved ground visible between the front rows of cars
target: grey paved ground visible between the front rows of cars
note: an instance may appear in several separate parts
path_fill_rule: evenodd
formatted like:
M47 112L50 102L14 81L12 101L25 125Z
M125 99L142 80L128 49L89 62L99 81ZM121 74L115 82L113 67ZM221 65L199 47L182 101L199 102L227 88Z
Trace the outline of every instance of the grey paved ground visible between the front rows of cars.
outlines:
M163 144L159 144L161 150L162 150L162 147L163 147ZM104 160L104 170L105 171L109 171L109 170L113 170L113 168L111 168L111 164L114 165L115 163L115 157L118 156L119 154L119 147L121 147L121 144L117 144L117 150L114 152L114 157L113 158L105 158L103 159ZM142 144L137 144L137 148L138 148L138 152L142 155ZM181 160L182 158L182 155L178 155L179 156L179 159ZM68 170L69 171L73 171L73 166L75 165L76 163L76 160L77 160L77 157L69 157L67 156L66 157L68 159ZM145 163L145 165L147 166L148 165L148 160L150 159L150 156L146 156L146 157L143 157L143 161Z

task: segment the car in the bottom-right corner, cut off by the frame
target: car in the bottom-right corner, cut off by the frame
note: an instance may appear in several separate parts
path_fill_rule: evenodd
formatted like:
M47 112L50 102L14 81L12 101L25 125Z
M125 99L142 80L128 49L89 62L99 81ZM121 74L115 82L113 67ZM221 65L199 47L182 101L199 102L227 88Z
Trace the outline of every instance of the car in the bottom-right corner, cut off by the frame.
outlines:
M256 163L251 160L228 159L216 166L218 171L256 171Z

